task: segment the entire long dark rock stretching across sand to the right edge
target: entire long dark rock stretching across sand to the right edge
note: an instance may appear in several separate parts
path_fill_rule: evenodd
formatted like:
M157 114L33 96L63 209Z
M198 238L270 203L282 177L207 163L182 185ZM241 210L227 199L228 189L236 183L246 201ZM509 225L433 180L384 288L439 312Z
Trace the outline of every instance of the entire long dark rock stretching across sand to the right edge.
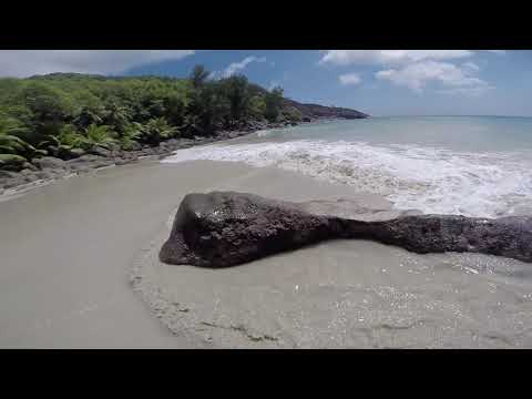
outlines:
M532 262L532 217L499 219L365 209L340 200L289 203L253 194L188 194L160 252L167 264L227 267L330 238L411 252L473 252Z

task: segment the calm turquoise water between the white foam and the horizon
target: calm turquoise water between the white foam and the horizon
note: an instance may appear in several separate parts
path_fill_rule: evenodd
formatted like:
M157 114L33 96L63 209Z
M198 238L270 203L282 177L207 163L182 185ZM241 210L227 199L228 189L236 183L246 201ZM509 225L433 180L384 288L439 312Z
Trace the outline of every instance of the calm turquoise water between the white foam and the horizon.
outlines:
M268 140L407 144L458 151L532 151L532 117L397 116L328 121L273 131Z

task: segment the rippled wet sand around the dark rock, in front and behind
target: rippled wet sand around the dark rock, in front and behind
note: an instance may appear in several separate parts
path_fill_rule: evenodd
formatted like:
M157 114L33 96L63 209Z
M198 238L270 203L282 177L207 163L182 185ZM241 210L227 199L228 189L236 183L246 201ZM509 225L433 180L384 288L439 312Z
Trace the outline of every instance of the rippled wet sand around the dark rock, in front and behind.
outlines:
M201 192L250 192L296 202L349 197L368 207L391 207L378 195L273 167L181 164L193 166L233 171L231 180ZM137 252L130 282L155 318L196 347L532 347L532 335L521 329L532 326L532 318L515 323L532 306L524 299L530 266L522 262L420 255L370 241L331 239L222 269L167 265L158 250L176 209Z

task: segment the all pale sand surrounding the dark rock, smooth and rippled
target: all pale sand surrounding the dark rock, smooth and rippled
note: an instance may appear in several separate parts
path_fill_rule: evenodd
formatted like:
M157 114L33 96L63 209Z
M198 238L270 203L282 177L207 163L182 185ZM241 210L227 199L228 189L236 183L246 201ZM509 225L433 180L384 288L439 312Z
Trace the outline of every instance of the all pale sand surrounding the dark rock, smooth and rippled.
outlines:
M532 268L518 260L336 241L227 269L161 264L183 196L213 190L391 206L209 161L35 188L0 202L0 347L532 347Z

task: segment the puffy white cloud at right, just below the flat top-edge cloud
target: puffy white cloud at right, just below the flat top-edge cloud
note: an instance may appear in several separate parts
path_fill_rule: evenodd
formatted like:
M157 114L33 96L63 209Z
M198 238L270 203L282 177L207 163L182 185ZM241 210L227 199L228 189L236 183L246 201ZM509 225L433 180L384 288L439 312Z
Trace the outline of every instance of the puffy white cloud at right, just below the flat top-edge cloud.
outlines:
M393 84L407 86L418 93L422 92L429 82L454 89L454 93L463 93L468 89L479 91L480 88L488 86L487 82L473 75L477 72L473 65L477 66L471 64L469 68L459 68L448 62L422 61L400 69L379 71L376 78L389 80Z

